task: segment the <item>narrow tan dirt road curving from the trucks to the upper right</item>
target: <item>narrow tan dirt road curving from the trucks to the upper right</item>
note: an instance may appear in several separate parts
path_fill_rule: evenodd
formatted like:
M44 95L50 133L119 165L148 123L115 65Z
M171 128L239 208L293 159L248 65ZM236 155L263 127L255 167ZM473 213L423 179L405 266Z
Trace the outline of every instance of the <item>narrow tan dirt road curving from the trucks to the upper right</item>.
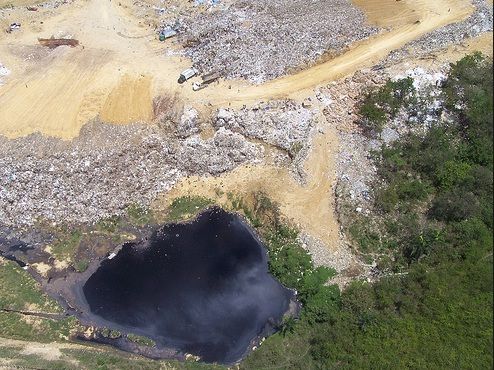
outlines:
M371 19L382 19L376 23L398 23L402 19L405 24L383 32L375 37L358 43L348 52L323 64L305 69L297 74L289 75L267 82L258 86L242 86L240 91L235 89L225 90L221 95L209 95L209 101L213 105L225 105L231 103L246 104L259 100L296 97L306 94L315 86L328 83L349 75L359 69L371 67L383 59L392 50L398 49L406 43L415 40L436 28L449 23L458 22L468 17L473 8L467 1L461 0L436 0L436 1L402 1L404 7L398 13L386 14L386 5L389 1L370 1L367 7L373 10ZM358 1L357 3L363 3ZM374 5L374 6L372 6ZM379 14L381 18L379 18ZM387 19L387 22L385 21ZM418 21L418 23L416 23ZM210 94L204 92L203 94Z

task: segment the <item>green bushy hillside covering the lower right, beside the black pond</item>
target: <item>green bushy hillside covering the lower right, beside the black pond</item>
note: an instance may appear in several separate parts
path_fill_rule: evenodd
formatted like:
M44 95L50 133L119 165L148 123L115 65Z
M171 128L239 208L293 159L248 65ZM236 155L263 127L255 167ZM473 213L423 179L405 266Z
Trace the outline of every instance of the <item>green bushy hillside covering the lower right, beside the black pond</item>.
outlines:
M364 100L371 132L410 102L408 82ZM442 88L449 120L377 153L375 211L346 225L360 252L379 261L377 283L339 293L321 283L327 272L292 276L306 262L282 242L271 268L302 293L302 317L243 368L492 367L492 82L492 61L480 54L452 65ZM270 245L286 237L274 235Z

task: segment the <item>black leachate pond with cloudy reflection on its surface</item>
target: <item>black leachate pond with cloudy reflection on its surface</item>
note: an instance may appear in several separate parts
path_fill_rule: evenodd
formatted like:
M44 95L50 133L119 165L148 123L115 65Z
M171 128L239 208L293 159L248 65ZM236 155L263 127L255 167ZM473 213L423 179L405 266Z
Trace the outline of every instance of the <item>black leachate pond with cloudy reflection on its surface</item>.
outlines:
M266 250L250 227L219 208L124 245L83 292L93 314L160 346L225 364L272 332L293 298L269 274Z

